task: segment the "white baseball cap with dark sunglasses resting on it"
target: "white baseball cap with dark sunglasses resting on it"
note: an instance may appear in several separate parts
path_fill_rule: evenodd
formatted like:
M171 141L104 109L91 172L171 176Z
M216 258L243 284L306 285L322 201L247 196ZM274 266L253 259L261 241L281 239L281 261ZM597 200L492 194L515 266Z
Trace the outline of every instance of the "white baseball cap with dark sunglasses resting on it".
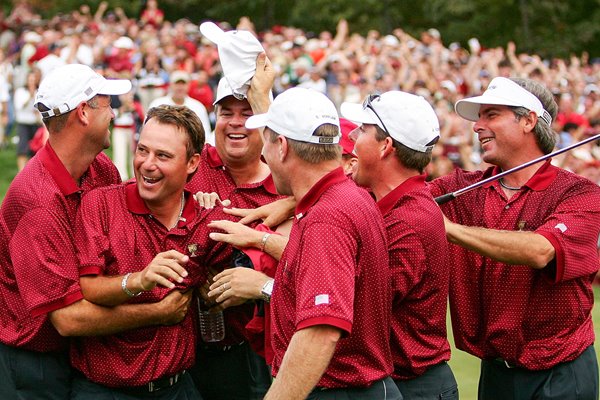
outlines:
M392 90L370 95L364 103L342 103L342 116L360 124L377 125L394 140L422 153L433 148L440 123L431 105L421 96Z

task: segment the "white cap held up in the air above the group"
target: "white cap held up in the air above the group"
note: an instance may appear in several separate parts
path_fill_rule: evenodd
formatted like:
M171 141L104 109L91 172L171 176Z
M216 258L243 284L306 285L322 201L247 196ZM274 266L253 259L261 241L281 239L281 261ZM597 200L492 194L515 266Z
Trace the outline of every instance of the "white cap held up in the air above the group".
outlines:
M234 96L244 98L256 72L256 58L265 51L262 45L250 31L225 32L214 22L203 22L200 32L217 45L223 75Z

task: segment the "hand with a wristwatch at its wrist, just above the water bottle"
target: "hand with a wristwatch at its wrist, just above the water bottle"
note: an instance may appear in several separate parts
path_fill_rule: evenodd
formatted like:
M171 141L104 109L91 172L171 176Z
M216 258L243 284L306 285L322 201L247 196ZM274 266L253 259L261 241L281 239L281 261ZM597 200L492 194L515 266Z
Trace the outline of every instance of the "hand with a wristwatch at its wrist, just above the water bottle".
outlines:
M213 278L208 295L223 309L261 298L263 285L271 278L252 268L228 268Z

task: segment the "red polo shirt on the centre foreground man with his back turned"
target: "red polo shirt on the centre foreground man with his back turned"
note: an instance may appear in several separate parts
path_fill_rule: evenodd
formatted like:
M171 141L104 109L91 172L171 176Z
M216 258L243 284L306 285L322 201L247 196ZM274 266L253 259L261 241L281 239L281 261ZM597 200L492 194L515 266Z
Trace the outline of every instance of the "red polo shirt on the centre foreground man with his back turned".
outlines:
M391 285L383 219L338 168L298 202L271 302L273 374L294 333L342 330L320 387L364 387L392 372Z

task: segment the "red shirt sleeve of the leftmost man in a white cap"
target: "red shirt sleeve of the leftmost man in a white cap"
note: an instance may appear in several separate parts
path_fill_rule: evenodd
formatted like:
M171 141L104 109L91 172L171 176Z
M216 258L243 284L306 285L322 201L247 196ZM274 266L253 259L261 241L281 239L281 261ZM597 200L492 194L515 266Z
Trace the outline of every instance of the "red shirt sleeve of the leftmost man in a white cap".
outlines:
M38 316L83 298L72 229L64 218L36 208L21 218L9 246L19 292Z

